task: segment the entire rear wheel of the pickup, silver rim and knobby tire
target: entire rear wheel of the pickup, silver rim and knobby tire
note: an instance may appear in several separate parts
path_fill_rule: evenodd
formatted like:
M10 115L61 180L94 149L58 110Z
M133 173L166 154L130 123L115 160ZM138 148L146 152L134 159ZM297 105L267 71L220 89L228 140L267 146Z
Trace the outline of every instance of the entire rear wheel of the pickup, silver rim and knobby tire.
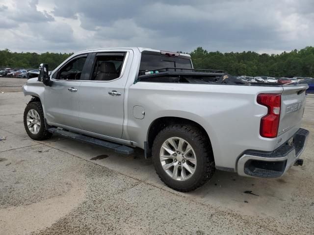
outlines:
M201 187L215 171L208 138L190 125L161 130L153 144L153 161L159 178L182 192Z

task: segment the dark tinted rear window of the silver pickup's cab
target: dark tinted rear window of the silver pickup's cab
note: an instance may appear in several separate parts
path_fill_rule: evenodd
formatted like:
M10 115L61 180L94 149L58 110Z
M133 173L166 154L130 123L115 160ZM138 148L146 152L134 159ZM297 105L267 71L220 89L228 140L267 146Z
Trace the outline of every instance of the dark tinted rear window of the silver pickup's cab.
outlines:
M142 54L139 66L140 71L157 70L161 68L192 69L192 64L189 59L166 55Z

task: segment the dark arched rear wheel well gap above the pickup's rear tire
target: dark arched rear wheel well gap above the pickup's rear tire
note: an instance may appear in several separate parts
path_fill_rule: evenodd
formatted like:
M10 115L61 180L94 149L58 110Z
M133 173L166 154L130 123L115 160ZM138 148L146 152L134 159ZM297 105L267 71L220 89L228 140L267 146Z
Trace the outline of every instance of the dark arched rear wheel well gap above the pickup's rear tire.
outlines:
M151 124L149 131L148 131L148 136L147 136L147 142L148 142L148 155L151 155L151 149L153 146L153 142L157 136L157 134L164 129L166 126L173 125L173 124L184 124L184 125L192 125L197 127L202 131L204 136L208 139L209 142L209 149L211 149L211 143L209 139L209 135L207 134L206 130L197 122L192 121L190 119L186 118L178 118L178 117L162 117L162 118L157 118L156 120L153 121Z

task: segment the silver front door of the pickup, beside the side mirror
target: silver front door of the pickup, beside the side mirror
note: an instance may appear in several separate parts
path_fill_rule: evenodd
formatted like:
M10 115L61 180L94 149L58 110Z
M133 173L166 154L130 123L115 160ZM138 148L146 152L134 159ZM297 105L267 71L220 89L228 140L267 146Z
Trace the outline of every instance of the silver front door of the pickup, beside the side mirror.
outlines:
M47 121L56 126L81 129L78 121L78 96L86 70L87 54L71 59L52 74L52 85L45 87Z

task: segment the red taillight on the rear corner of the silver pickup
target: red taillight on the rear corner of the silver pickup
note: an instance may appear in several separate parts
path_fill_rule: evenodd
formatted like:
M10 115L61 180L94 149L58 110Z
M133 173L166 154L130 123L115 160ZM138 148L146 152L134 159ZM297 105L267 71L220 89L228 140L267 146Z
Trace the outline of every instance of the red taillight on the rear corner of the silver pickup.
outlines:
M261 119L260 135L275 138L278 134L281 94L259 94L257 102L268 108L267 115Z

